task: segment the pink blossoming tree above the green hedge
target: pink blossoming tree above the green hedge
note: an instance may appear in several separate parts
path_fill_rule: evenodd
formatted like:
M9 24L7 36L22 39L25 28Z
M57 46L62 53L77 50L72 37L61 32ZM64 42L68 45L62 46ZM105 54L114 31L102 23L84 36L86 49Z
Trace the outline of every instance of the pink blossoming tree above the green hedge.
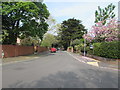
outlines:
M118 23L117 20L110 19L106 25L103 25L104 21L96 23L92 26L91 31L85 34L83 37L89 41L103 42L103 41L115 41L118 40Z

